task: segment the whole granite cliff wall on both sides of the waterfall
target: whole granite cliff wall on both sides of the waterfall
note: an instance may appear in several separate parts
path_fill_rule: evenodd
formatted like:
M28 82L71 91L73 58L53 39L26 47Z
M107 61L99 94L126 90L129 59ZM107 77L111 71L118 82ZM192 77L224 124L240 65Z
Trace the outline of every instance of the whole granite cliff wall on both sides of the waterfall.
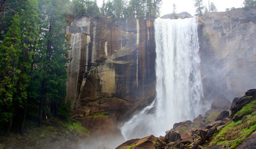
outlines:
M108 123L111 132L120 133L114 127L156 94L154 21L72 16L67 20L66 37L72 47L67 54L72 58L67 64L67 98L72 100L73 118L86 127ZM255 22L255 9L198 18L202 100L211 103L219 95L231 100L255 87ZM108 118L97 116L102 114Z

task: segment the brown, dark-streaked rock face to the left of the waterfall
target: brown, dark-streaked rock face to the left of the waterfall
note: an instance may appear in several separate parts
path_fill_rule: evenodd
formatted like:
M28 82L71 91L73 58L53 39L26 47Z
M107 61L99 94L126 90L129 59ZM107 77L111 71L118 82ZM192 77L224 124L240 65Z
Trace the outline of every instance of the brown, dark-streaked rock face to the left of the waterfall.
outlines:
M154 22L68 16L67 98L76 114L122 120L155 96Z

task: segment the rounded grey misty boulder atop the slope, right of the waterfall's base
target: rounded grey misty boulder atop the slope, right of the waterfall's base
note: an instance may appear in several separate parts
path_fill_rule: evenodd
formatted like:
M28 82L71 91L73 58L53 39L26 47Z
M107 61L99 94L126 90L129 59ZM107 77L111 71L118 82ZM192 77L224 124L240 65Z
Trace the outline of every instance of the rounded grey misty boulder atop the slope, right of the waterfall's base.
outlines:
M212 102L211 109L229 109L231 106L230 100L228 100L224 95L220 95L217 99Z

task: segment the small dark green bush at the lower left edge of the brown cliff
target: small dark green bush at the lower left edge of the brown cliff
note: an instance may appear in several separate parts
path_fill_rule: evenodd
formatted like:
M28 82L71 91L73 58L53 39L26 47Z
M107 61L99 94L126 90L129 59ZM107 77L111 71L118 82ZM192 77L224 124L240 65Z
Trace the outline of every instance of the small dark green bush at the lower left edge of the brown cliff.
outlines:
M58 108L58 116L63 120L70 120L72 110L71 110L71 100L67 99L67 103L61 104Z

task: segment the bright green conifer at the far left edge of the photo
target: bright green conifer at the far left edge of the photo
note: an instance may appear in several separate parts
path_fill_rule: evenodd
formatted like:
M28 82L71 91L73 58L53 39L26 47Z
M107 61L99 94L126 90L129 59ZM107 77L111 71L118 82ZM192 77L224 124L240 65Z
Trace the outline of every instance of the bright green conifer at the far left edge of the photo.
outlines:
M0 123L8 122L13 117L14 94L20 73L20 37L20 17L16 14L0 45Z

